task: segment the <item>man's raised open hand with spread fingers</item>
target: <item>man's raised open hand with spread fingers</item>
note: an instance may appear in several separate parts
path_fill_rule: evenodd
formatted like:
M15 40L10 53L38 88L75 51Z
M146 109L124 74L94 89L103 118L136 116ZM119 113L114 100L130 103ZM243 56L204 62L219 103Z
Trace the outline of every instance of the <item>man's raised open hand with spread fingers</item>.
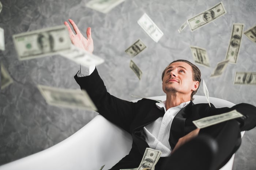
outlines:
M69 37L71 39L71 42L83 49L88 51L89 53L93 53L93 38L91 38L91 28L88 27L86 30L86 35L87 35L87 39L81 34L81 32L79 31L78 27L76 26L75 22L72 19L68 19L68 21L70 22L70 24L72 25L74 32L72 31L71 27L69 26L68 22L64 22L65 26L67 26L68 28L68 32L69 32Z

